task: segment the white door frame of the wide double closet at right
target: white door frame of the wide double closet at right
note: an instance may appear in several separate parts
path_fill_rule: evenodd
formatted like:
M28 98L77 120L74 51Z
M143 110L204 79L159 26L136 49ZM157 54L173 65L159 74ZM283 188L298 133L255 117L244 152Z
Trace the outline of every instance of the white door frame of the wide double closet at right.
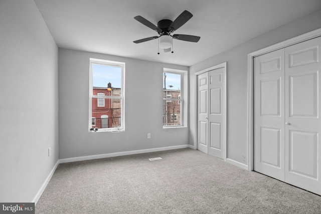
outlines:
M248 54L247 57L247 167L254 170L254 57L321 36L321 28Z

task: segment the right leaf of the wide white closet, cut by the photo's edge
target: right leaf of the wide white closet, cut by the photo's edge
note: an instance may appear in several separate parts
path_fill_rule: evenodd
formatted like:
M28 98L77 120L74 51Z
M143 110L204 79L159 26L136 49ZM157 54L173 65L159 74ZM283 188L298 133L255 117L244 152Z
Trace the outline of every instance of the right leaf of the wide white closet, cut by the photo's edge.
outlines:
M285 48L285 182L321 194L321 37Z

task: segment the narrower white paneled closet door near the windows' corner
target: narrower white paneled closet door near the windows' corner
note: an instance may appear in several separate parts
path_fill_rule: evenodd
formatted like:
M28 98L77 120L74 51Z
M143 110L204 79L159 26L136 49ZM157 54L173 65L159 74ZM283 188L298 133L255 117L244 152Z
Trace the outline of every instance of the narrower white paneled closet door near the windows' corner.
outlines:
M198 149L224 159L226 68L198 75Z

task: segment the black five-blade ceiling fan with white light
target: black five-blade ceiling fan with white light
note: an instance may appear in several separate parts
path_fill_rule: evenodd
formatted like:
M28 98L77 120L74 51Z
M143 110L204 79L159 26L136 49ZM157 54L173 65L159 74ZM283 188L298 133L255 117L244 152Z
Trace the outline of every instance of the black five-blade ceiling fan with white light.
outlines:
M149 22L148 20L144 19L141 16L136 16L134 17L135 20L140 22L141 24L147 26L148 28L156 31L159 36L154 36L154 37L147 37L144 39L136 40L134 43L142 43L142 42L147 42L150 40L158 39L158 48L161 47L164 49L164 52L170 52L171 49L173 48L173 39L177 40L182 40L182 41L187 41L187 42L195 42L197 43L201 37L198 36L192 36L192 35L185 35L185 34L173 34L174 31L182 27L187 21L189 21L193 15L188 12L184 11L180 16L178 16L174 22L171 20L161 20L157 23L157 26ZM174 53L172 51L172 53ZM159 51L158 53L159 54Z

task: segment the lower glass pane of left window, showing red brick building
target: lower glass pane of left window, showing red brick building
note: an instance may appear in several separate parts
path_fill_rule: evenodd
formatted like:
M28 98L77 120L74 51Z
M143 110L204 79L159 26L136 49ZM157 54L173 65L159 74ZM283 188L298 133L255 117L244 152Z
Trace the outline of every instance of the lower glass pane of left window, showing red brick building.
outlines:
M105 106L97 106L92 98L92 128L117 128L121 126L121 99L103 98ZM95 122L94 122L95 120Z

